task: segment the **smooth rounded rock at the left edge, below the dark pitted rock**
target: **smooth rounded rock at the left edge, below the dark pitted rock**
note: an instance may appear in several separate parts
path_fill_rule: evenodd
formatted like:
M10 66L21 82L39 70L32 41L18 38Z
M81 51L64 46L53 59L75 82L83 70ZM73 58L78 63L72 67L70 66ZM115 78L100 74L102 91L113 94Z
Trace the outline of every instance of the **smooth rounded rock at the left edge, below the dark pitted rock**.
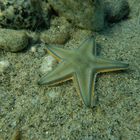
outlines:
M0 49L18 52L28 45L29 37L23 30L0 29Z

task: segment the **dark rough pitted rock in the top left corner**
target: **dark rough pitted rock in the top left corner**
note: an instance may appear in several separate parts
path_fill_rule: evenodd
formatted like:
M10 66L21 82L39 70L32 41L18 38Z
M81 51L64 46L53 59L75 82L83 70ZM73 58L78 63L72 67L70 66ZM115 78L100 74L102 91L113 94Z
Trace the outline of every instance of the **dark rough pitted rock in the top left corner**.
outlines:
M48 28L50 8L45 1L4 0L0 1L0 26L12 29Z

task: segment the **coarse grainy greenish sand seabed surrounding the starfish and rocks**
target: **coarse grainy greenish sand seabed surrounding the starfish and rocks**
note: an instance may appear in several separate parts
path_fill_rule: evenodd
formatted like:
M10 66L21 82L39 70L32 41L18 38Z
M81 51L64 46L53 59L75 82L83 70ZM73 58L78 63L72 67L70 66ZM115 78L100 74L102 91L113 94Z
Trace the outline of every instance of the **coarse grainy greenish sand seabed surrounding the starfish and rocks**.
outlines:
M0 75L0 140L10 140L17 129L23 140L140 139L140 3L129 3L129 18L96 37L99 55L129 63L129 69L97 76L93 109L83 105L71 81L37 85L46 55L41 47L35 53L0 51L1 60L11 64ZM88 34L75 29L65 47L78 47Z

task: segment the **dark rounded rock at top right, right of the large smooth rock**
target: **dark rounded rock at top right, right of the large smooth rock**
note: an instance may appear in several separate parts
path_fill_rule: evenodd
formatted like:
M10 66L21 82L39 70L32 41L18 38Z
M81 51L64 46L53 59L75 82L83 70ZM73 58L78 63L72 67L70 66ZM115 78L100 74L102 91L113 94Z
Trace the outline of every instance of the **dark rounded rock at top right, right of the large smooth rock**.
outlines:
M105 0L107 21L117 22L128 16L130 9L126 0Z

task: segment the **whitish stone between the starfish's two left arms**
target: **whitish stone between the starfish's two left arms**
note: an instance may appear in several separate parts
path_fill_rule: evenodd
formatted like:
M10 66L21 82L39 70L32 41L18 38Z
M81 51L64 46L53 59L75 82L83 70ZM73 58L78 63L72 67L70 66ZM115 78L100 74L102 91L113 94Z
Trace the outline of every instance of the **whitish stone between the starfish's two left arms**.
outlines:
M54 59L51 55L44 57L40 67L41 74L46 74L51 71L56 62L56 59Z

